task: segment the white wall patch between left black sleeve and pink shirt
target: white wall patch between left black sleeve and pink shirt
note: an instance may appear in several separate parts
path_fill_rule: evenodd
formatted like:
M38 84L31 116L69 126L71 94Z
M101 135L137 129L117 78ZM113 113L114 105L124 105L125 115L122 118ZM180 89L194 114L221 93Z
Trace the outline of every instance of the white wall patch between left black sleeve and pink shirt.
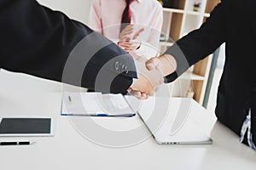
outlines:
M38 3L59 10L68 17L79 20L84 24L88 21L91 0L38 0Z

